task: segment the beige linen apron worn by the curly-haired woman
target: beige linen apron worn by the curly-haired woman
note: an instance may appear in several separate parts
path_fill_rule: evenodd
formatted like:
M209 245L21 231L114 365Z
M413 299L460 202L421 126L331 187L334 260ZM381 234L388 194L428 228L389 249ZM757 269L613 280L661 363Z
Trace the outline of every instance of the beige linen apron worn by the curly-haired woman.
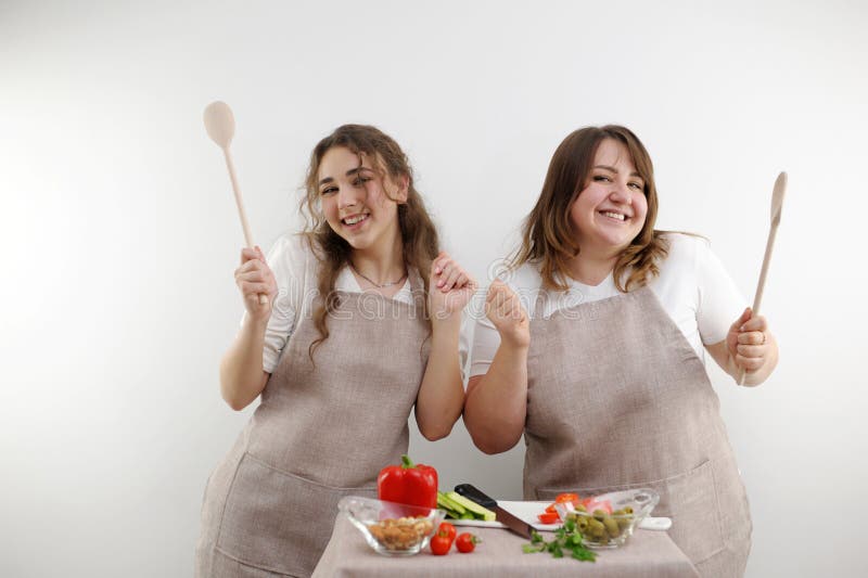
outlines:
M308 346L319 333L304 316L261 403L212 474L201 578L309 576L337 501L375 498L380 470L406 453L430 345L421 304L342 293L329 329L315 365Z

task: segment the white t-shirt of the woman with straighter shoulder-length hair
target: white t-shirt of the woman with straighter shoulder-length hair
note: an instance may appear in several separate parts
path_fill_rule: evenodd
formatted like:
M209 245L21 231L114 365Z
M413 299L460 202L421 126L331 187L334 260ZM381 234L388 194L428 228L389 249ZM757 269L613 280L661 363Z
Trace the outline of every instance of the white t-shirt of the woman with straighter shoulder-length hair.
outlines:
M659 264L660 275L652 278L648 286L704 362L703 345L724 341L729 326L744 311L746 301L720 260L712 253L707 241L679 233L671 233L666 237L669 240L668 256ZM519 295L527 314L533 318L537 293L542 285L538 267L524 264L507 273L503 281ZM566 283L566 292L548 292L547 298L542 299L544 318L580 303L621 294L612 273L596 286L573 279L567 279ZM476 317L471 377L488 371L500 345L500 334L488 318L484 314Z

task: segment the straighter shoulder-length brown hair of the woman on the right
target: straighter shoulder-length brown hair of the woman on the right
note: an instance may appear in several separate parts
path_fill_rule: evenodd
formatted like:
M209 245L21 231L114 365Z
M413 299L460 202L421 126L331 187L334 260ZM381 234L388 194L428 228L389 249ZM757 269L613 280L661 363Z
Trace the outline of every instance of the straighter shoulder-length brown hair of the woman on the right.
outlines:
M633 131L618 125L582 128L569 134L554 151L539 198L524 220L521 247L511 259L513 268L527 261L538 262L546 288L567 288L563 277L570 260L579 252L570 220L570 207L587 187L593 155L605 139L613 139L627 147L637 172L644 181L648 201L642 230L615 262L614 281L618 291L627 293L648 283L650 277L660 274L658 262L668 254L668 242L663 237L666 231L654 229L658 192L654 167L644 145ZM623 283L623 273L628 269L630 274Z

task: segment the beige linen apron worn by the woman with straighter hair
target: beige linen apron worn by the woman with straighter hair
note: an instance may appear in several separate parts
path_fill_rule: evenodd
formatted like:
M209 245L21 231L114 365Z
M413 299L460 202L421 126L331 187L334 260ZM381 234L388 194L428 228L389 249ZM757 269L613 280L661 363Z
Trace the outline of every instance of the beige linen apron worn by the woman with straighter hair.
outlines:
M741 576L744 487L702 361L643 287L531 321L524 498L651 487L703 576Z

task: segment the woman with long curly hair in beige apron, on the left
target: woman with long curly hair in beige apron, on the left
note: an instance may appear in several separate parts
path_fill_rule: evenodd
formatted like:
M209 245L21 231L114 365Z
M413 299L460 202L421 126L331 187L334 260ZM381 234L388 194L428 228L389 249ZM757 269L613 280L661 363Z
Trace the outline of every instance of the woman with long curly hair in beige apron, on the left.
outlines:
M439 252L398 144L345 125L314 149L301 235L242 249L246 313L220 364L234 410L261 402L208 479L202 578L309 576L337 501L376 497L407 452L461 414L461 310L474 283ZM265 304L260 295L269 298Z

